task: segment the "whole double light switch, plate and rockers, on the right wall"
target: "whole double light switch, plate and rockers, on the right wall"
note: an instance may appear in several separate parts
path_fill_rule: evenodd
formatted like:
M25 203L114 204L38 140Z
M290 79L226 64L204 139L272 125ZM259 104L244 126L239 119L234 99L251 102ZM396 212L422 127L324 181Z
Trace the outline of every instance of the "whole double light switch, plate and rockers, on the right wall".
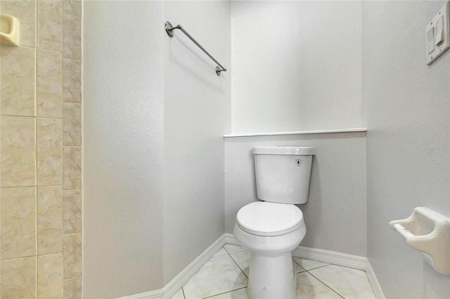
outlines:
M450 48L449 1L446 1L425 30L427 65Z

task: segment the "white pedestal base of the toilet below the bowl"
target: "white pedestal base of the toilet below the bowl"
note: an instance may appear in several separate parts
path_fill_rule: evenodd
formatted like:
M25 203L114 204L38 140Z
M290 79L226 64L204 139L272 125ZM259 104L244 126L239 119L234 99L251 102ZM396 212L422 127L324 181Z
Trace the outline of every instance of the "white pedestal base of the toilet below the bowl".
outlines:
M250 255L247 295L250 299L294 299L296 293L290 252L275 258Z

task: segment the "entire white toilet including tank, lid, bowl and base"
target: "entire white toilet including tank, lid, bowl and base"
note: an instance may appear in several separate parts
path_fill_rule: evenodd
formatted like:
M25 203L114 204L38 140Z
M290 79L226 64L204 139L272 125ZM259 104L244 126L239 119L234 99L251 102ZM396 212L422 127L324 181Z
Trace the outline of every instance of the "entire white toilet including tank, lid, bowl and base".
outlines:
M307 228L295 206L308 200L312 147L254 147L257 197L236 215L234 235L250 251L250 299L293 299L291 252Z

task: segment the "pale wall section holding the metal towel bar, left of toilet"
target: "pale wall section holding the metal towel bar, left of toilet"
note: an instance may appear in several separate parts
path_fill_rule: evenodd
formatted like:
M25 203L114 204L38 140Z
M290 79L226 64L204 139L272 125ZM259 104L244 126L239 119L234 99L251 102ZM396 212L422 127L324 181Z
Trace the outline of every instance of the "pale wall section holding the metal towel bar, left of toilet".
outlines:
M224 67L230 58L229 1L166 1L181 24ZM224 234L224 140L230 77L182 32L165 44L164 284Z

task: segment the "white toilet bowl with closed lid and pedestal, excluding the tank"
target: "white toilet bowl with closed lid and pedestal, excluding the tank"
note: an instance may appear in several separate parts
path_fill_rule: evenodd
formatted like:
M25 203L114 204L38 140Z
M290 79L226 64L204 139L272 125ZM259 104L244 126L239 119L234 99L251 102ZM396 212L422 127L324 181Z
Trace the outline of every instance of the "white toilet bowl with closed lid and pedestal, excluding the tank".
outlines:
M302 211L292 204L257 201L239 210L233 232L250 251L249 298L295 298L291 252L306 231Z

